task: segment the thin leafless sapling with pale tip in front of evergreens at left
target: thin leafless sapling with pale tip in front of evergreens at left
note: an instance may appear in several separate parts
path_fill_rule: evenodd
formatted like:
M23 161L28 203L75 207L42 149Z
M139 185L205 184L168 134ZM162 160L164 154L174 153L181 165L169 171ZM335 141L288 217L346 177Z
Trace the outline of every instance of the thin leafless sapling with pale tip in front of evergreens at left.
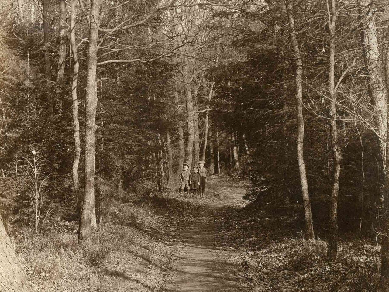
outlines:
M32 157L24 157L24 160L27 162L26 174L28 180L26 186L30 191L30 199L35 212L35 233L38 234L40 220L42 219L43 226L52 211L48 210L44 217L41 215L42 206L48 191L50 175L43 176L43 159L33 147L31 148L31 152Z

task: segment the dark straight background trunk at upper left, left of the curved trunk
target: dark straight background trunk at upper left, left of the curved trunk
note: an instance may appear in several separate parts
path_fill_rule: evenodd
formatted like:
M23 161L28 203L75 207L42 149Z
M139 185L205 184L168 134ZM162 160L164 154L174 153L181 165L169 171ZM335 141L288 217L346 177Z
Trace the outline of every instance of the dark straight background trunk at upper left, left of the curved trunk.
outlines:
M48 14L47 10L49 9L49 0L42 0L43 3L43 44L44 44L44 54L45 54L45 77L46 77L46 103L47 111L49 117L53 117L53 101L51 98L51 89L50 89L50 56L49 56L49 23L48 23Z

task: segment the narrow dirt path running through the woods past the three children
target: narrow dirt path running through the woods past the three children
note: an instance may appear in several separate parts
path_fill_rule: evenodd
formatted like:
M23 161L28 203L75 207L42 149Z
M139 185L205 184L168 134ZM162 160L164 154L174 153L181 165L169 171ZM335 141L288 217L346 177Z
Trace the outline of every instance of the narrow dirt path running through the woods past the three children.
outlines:
M218 200L205 199L197 223L187 227L182 237L182 255L177 262L177 275L168 292L233 292L245 291L236 278L237 262L231 262L231 250L217 246L215 236L220 229L216 218L225 208L245 205L242 185L225 186L222 179L208 183L206 197L220 196Z

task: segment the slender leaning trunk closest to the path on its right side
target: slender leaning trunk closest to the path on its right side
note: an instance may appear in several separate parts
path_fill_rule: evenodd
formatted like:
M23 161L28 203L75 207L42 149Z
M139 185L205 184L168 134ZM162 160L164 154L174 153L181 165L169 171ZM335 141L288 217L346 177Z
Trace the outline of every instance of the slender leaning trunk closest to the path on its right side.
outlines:
M303 116L303 87L301 77L303 75L303 63L300 57L300 48L298 46L296 30L294 27L294 17L293 17L293 6L292 3L287 3L286 6L288 20L289 20L289 29L291 35L291 42L294 51L294 58L296 60L296 115L297 115L297 139L296 139L296 148L297 148L297 162L300 172L300 183L301 183L301 194L303 197L304 204L304 215L305 215L305 229L307 240L315 240L314 227L312 223L312 211L311 203L308 192L308 181L307 173L305 169L304 162L304 116ZM245 147L246 143L245 143ZM248 151L248 148L246 148Z

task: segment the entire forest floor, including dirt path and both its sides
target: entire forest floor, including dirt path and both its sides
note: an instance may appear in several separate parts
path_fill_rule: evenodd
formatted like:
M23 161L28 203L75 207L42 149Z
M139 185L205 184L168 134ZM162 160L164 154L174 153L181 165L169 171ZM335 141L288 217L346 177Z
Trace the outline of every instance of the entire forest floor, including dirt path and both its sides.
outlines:
M77 244L72 221L42 236L14 236L35 291L376 291L380 250L343 240L303 240L301 206L248 205L246 183L209 179L206 198L168 192L105 203L94 244Z

